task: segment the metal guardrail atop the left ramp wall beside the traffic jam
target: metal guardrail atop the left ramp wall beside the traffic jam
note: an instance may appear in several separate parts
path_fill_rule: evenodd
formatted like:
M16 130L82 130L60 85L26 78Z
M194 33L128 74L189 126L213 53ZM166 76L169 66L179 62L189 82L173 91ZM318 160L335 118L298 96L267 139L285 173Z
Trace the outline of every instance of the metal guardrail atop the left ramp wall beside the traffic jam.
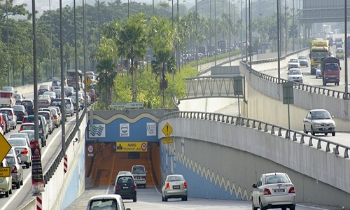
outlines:
M84 109L83 113L80 115L78 125L74 127L73 131L69 134L68 138L66 139L66 144L64 145L64 148L62 148L59 151L59 153L57 153L57 155L55 156L55 159L51 162L50 167L45 171L43 175L43 180L45 184L47 184L48 181L50 181L50 179L52 178L52 175L55 174L56 169L59 166L59 163L62 161L64 154L66 154L66 149L69 147L69 145L73 141L73 138L76 135L76 132L78 132L78 128L80 127L80 124L83 122L85 113L86 113L86 109Z

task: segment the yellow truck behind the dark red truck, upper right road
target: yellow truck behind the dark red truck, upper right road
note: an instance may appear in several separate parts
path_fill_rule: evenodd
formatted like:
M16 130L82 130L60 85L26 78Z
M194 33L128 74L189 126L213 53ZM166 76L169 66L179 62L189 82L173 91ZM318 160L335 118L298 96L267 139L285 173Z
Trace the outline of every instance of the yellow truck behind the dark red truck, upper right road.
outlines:
M314 39L310 46L310 73L316 74L318 64L321 64L321 58L328 57L330 54L330 46L328 40Z

